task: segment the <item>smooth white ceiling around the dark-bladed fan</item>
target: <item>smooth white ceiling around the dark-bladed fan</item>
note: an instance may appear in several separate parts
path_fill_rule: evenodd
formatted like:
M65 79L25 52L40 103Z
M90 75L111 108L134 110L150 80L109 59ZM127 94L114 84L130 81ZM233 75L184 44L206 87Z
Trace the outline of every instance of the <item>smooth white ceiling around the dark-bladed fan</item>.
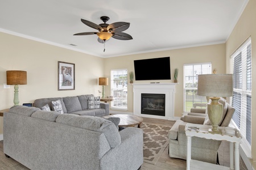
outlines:
M0 0L0 31L98 57L225 42L248 0ZM129 22L133 40L104 44L81 18L100 24ZM71 46L75 44L77 46Z

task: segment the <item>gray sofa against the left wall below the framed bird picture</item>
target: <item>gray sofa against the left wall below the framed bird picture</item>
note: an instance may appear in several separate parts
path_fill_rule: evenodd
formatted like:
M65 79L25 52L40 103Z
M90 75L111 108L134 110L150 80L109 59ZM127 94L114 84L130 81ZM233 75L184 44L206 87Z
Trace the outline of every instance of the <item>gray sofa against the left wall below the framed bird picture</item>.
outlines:
M107 116L109 115L109 104L100 103L98 109L88 109L88 97L94 97L93 95L80 95L80 96L68 96L68 97L53 97L36 99L34 101L34 107L42 108L48 104L52 110L52 101L60 100L64 113L72 113L86 116Z

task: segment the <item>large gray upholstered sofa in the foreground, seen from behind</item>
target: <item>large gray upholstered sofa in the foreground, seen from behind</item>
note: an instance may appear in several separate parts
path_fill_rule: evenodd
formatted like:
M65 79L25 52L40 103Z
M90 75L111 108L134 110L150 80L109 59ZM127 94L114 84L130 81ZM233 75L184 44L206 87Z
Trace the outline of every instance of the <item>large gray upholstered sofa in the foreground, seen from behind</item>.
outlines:
M118 131L102 117L24 106L3 119L3 152L30 169L132 170L143 163L139 128Z

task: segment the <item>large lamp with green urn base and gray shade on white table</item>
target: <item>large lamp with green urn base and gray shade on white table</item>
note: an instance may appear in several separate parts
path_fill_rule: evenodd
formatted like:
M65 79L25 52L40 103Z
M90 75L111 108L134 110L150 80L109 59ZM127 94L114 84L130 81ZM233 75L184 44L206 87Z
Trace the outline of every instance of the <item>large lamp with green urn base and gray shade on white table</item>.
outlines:
M209 120L212 123L212 133L221 133L218 124L223 114L223 105L218 102L220 97L233 96L233 74L202 74L198 75L197 95L210 96L207 104Z

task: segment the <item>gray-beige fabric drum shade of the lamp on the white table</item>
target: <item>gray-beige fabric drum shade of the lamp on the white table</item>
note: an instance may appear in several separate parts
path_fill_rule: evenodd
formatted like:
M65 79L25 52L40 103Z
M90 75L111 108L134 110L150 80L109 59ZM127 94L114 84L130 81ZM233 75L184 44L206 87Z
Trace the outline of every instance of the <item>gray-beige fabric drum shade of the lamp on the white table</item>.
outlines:
M198 75L197 95L209 97L233 96L233 74Z

